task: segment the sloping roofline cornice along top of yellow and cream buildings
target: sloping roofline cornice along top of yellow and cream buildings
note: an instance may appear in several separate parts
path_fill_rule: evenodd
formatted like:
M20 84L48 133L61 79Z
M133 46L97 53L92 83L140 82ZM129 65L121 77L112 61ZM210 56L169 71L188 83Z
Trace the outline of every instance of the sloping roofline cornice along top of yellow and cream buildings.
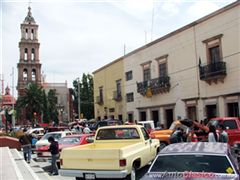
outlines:
M214 11L214 12L212 12L212 13L210 13L210 14L208 14L208 15L206 15L206 16L198 19L198 20L196 20L196 21L193 21L193 22L191 22L191 23L189 23L189 24L187 24L187 25L185 25L185 26L183 26L183 27L181 27L181 28L179 28L179 29L177 29L175 31L172 31L172 32L170 32L170 33L168 33L168 34L166 34L166 35L164 35L164 36L162 36L162 37L160 37L160 38L158 38L158 39L156 39L156 40L154 40L154 41L152 41L152 42L150 42L150 43L148 43L148 44L146 44L144 46L141 46L140 48L137 48L137 49L127 53L124 56L121 56L120 58L118 58L118 59L116 59L116 60L106 64L105 66L103 66L103 67L101 67L99 69L97 69L96 71L93 72L93 74L97 73L98 71L100 71L100 70L102 70L102 69L104 69L104 68L106 68L106 67L108 67L108 66L110 66L110 65L112 65L112 64L114 64L114 63L116 63L118 61L120 61L120 60L123 60L124 58L126 58L128 56L131 56L132 54L135 54L135 53L137 53L137 52L139 52L139 51L141 51L143 49L146 49L146 48L148 48L150 46L153 46L153 45L157 44L158 42L161 42L161 41L163 41L163 40L165 40L165 39L167 39L167 38L169 38L171 36L174 36L174 35L182 32L182 31L185 31L186 29L190 29L190 28L192 28L192 27L194 27L194 26L196 26L196 25L198 25L198 24L200 24L200 23L202 23L202 22L204 22L204 21L206 21L208 19L211 19L211 18L213 18L213 17L215 17L215 16L217 16L217 15L223 13L223 12L228 11L229 9L237 7L238 5L240 5L240 0L237 0L237 1L235 1L235 2L225 6L225 7L221 8L221 9L219 9L219 10L216 10L216 11Z

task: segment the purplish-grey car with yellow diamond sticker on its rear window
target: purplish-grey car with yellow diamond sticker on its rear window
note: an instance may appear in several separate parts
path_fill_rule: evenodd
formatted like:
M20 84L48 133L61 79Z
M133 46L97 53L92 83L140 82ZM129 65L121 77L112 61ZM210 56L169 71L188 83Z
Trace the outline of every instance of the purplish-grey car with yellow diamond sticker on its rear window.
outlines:
M227 143L190 142L165 147L142 180L239 180L238 163Z

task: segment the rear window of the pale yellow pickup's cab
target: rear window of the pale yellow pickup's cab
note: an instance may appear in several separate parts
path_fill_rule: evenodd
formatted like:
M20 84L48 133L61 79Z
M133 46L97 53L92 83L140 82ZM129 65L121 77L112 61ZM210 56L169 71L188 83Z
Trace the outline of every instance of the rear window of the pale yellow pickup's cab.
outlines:
M97 140L121 140L139 139L140 136L135 128L101 129L98 131Z

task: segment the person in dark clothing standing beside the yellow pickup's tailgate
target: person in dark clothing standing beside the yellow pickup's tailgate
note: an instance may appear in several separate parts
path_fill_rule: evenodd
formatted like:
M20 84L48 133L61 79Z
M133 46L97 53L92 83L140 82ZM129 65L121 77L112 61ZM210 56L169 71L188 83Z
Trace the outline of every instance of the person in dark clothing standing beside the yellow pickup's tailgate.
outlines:
M58 175L58 167L57 167L57 159L59 157L59 146L58 142L54 140L52 136L48 138L48 142L50 143L49 151L52 155L52 161L51 161L51 175Z

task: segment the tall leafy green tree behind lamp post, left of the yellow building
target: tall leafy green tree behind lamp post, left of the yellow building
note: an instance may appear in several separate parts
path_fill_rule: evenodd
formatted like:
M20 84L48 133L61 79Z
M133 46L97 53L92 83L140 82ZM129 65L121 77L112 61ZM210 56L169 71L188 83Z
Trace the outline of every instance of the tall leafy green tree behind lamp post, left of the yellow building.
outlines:
M78 113L78 80L73 81L74 87L74 110ZM94 104L93 104L93 77L90 74L83 74L80 81L80 109L81 113L86 119L94 117Z

